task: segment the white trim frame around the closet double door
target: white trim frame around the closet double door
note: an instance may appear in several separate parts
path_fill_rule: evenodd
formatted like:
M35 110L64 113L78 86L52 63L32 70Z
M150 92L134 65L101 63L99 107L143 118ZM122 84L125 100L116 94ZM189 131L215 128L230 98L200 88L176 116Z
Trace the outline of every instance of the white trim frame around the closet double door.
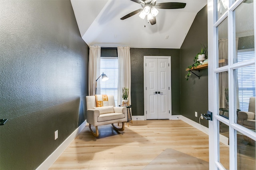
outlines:
M172 88L171 88L171 79L172 79L172 74L171 74L171 56L144 56L144 64L143 64L143 66L144 66L144 120L146 120L147 118L146 118L146 77L145 77L145 75L146 75L146 68L145 68L145 66L146 66L146 58L148 58L148 59L155 59L155 58L159 58L159 59L169 59L169 64L170 64L170 66L169 66L169 70L170 70L170 79L169 79L169 84L170 84L170 90L169 90L169 102L170 102L170 114L169 114L169 119L171 119L172 118L172 98L171 98L171 94L172 94Z

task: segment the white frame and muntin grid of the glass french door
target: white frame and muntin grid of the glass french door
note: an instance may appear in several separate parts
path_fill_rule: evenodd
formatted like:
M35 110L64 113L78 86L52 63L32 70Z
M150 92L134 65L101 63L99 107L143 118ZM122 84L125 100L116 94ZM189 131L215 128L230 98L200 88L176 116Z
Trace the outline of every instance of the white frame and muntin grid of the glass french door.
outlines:
M228 18L228 23L229 25L232 25L232 9L235 9L240 3L242 3L243 0L237 0L236 2L234 2L234 4L232 4L232 6L230 8L228 8L228 12L226 14L226 16L229 16L230 18ZM229 134L230 134L230 138L229 138L229 143L230 143L230 148L229 148L229 157L230 157L230 170L236 170L237 169L237 159L236 159L236 131L239 131L240 133L243 133L244 135L252 138L252 139L256 139L256 135L255 132L250 131L244 127L241 127L240 125L236 124L236 119L234 119L234 116L231 116L229 120L226 120L225 118L221 117L220 115L218 115L218 86L216 84L218 84L218 72L222 72L225 71L225 69L228 70L229 72L229 83L228 83L228 88L230 89L229 92L229 98L231 100L229 107L230 107L230 112L234 112L234 101L233 100L233 96L234 96L234 74L233 74L233 70L236 68L239 68L241 66L246 66L246 64L251 65L252 63L256 63L255 60L254 61L247 61L246 63L244 62L243 64L241 63L236 63L236 64L232 64L232 54L234 50L232 50L232 44L230 42L234 42L234 37L233 37L233 31L234 28L229 27L228 28L228 39L229 39L229 45L228 45L228 50L229 50L229 54L228 54L228 60L229 60L229 64L228 66L226 66L226 68L217 68L217 64L218 64L218 59L216 59L217 56L217 49L218 49L218 32L215 29L214 26L218 25L218 22L215 24L216 22L216 14L214 12L214 9L216 9L216 4L214 4L215 0L208 0L208 109L209 111L212 111L213 113L213 119L212 121L209 121L209 169L210 170L224 170L225 168L220 164L220 162L218 162L219 159L219 154L218 154L218 150L219 150L219 128L218 128L218 121L221 122L225 122L229 128ZM230 10L230 11L229 11ZM223 16L225 16L225 14L223 14ZM254 35L255 35L255 29L256 29L256 5L254 2ZM224 17L221 17L219 20L222 20ZM219 22L220 23L220 22ZM256 37L254 36L254 39L256 39ZM256 42L256 41L255 41ZM256 45L256 43L254 43L254 46ZM217 69L216 69L217 68Z

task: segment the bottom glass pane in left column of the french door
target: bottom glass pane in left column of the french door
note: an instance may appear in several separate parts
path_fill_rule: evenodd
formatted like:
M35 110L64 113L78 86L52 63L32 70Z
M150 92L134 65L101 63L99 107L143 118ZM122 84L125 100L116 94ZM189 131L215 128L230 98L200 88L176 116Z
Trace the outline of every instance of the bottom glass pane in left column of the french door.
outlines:
M219 121L220 125L220 145L219 145L219 152L220 152L220 160L219 162L224 166L224 168L229 169L229 147L228 147L228 125Z

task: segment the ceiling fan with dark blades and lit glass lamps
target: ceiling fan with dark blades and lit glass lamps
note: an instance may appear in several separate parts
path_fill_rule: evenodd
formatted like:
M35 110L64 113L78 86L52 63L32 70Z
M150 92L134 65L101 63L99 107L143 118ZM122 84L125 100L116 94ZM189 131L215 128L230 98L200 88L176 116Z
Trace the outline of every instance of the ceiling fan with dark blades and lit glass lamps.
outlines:
M180 9L186 6L186 3L181 3L181 2L164 2L164 3L156 4L156 0L131 0L131 1L141 4L142 8L135 10L130 14L127 14L126 16L120 18L120 20L129 18L140 12L139 17L142 19L145 19L147 17L147 20L150 21L151 25L154 25L156 23L156 15L158 14L158 10L156 8Z

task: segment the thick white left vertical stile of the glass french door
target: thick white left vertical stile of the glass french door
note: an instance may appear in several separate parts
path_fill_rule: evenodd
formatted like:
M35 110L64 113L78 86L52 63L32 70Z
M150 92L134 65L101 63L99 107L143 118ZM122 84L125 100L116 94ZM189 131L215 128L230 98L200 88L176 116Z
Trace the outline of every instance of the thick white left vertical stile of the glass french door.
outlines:
M218 37L217 37L217 26L214 26L216 22L217 14L216 9L217 3L216 0L208 0L208 89L213 89L208 91L208 106L209 111L213 113L212 121L209 121L209 170L218 170L218 132L214 131L217 127L218 129L218 120L215 116L218 113L218 110L215 106L217 106L217 73L214 70L217 67L218 60L216 59L218 53L216 52L218 49ZM212 82L212 83L210 83Z

